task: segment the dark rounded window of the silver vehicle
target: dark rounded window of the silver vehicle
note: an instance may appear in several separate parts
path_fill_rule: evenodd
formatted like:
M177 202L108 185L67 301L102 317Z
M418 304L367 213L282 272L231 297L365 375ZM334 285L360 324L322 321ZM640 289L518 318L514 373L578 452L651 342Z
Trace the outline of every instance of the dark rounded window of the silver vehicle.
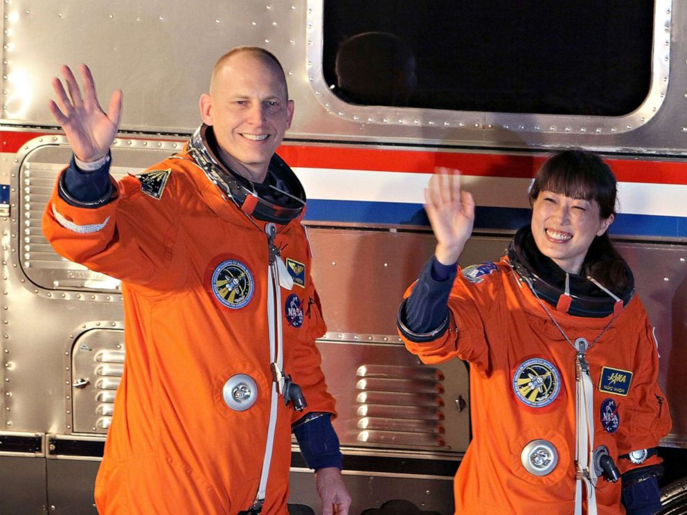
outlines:
M323 73L353 104L622 116L653 19L653 0L325 0Z

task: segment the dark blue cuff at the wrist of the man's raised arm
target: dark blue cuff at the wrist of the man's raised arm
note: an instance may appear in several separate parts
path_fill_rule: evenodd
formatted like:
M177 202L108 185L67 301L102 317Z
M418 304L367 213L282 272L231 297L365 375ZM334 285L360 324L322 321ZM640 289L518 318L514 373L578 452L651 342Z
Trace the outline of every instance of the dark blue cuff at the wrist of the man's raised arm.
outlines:
M60 177L60 197L67 204L96 208L107 204L112 196L109 178L109 160L98 170L79 170L72 156L69 168Z

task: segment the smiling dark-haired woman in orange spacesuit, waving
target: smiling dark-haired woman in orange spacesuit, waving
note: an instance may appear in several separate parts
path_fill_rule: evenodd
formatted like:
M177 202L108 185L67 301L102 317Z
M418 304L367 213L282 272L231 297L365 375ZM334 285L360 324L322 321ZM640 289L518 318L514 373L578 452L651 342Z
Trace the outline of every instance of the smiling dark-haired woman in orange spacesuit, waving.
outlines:
M654 513L670 415L653 327L607 235L613 172L589 152L556 152L530 188L530 225L499 262L460 273L472 196L444 170L425 200L436 250L398 328L424 363L470 363L456 514Z

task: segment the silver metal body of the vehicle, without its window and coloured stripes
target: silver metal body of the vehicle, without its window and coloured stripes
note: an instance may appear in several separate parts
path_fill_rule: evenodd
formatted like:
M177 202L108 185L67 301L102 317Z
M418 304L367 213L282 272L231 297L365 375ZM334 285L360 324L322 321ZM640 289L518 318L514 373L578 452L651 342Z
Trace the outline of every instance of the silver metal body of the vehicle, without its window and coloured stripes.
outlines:
M124 133L113 145L112 172L115 177L140 172L180 150L183 135L195 129L198 96L207 89L217 57L235 44L256 44L283 62L296 102L287 136L308 143L414 145L421 152L584 145L637 160L687 155L685 2L657 0L651 93L637 111L620 118L346 105L322 90L321 5L321 0L8 0L0 4L0 123L8 134L51 132L55 122L46 102L53 96L51 78L63 62L87 62L103 103L115 88L125 95ZM380 123L384 117L387 123ZM118 281L60 258L42 235L42 210L71 156L65 138L48 134L22 143L16 153L0 150L0 182L10 185L10 204L0 206L0 428L102 442L125 360ZM427 230L381 224L311 226L309 234L312 275L328 325L318 346L337 399L334 426L344 452L371 460L395 453L427 464L460 460L470 421L464 409L469 406L461 408L456 399L469 399L467 368L457 360L421 365L400 345L395 330L400 299L431 255L434 237ZM461 264L498 259L510 235L498 229L475 235ZM618 247L657 326L659 382L673 417L672 434L662 443L687 447L687 405L679 401L687 396L685 242L636 238ZM0 483L12 492L0 495L0 513L43 513L51 507L55 513L93 513L99 458L48 458L0 455ZM75 464L80 461L88 464ZM452 513L449 475L418 476L402 466L349 473L353 512L402 498L420 509ZM312 474L292 473L292 500L317 506Z

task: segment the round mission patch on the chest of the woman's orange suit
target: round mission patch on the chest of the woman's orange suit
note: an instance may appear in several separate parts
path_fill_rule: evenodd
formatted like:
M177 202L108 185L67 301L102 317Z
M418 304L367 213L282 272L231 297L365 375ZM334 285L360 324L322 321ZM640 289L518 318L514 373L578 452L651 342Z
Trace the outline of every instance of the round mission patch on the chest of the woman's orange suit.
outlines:
M513 374L513 392L527 406L544 408L560 393L560 372L543 358L530 358Z

